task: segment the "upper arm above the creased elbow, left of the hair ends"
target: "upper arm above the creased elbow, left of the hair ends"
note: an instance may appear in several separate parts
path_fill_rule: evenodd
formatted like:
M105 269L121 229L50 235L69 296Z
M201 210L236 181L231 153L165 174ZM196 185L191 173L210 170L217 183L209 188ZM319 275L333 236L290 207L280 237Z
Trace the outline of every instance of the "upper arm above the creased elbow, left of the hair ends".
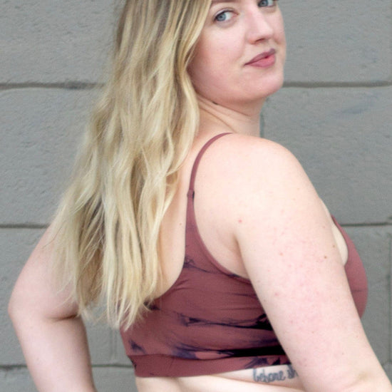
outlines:
M21 270L9 301L11 317L36 316L66 319L78 314L68 289L61 289L53 276L53 242L46 230Z

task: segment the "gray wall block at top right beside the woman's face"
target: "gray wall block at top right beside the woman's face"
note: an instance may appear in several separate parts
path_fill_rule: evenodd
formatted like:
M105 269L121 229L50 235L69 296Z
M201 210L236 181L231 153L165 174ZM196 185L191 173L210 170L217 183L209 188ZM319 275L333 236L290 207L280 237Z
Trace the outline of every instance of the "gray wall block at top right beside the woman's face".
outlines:
M390 0L282 1L287 82L391 81Z

